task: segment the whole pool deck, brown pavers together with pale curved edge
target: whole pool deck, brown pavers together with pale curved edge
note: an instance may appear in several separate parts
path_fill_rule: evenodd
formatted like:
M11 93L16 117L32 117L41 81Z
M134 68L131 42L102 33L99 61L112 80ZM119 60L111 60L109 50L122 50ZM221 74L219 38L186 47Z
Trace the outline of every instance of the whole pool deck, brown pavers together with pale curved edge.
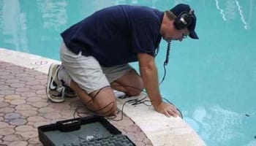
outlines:
M48 101L45 86L52 63L60 64L38 55L0 48L0 145L42 145L38 126L74 118L75 110L86 112L78 98L59 104ZM125 101L143 96L117 98L118 109L122 109ZM116 117L119 119L121 112ZM144 104L125 104L124 118L109 121L139 146L206 145L181 118L167 118Z

